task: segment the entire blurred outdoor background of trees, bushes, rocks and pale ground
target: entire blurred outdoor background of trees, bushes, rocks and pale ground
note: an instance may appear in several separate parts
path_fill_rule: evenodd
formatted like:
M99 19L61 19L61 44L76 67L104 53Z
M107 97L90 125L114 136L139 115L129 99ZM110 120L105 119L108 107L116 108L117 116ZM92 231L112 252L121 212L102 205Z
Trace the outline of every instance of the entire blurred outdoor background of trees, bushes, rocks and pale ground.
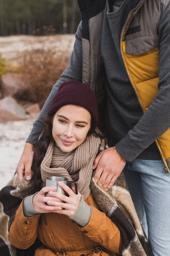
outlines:
M80 20L77 0L0 0L0 189L68 66Z

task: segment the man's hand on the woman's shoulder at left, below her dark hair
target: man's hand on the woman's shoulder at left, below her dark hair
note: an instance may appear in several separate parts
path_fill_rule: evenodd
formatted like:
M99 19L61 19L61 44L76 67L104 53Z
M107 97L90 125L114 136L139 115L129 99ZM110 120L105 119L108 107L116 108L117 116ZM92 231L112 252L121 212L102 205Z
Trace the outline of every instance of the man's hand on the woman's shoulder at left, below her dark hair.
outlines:
M23 154L17 165L17 175L19 180L22 180L24 173L26 175L26 180L31 180L31 166L34 155L34 145L31 143L26 143Z

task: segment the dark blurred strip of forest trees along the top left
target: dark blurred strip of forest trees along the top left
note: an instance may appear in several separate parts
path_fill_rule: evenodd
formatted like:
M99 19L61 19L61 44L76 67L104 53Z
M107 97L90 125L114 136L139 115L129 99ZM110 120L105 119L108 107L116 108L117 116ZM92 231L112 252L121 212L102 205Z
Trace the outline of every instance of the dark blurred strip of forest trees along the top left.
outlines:
M0 35L75 33L77 0L0 0Z

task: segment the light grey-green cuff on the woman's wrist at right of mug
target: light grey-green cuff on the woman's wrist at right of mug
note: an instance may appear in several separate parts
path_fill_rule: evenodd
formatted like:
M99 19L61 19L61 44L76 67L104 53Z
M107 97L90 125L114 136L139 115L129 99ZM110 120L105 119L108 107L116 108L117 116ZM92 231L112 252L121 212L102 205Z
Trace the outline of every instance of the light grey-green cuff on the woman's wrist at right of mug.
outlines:
M76 221L77 224L79 224L81 227L85 227L91 218L91 212L91 206L86 204L86 202L84 201L84 196L82 195L77 211L74 213L73 216L70 216L70 218Z

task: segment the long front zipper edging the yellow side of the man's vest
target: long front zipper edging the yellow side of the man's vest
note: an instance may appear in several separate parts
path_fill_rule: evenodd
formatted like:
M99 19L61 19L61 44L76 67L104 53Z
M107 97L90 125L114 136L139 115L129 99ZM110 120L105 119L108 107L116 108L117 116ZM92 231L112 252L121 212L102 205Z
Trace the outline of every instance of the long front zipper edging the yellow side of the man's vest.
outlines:
M137 4L137 6L136 6L133 10L131 10L131 12L130 12L130 13L128 14L128 16L127 16L127 19L126 19L126 21L125 21L124 26L122 27L122 31L121 31L121 34L120 34L120 53L121 53L122 61L123 61L123 64L124 64L124 67L125 67L127 76L128 76L128 78L129 78L130 84L131 84L132 87L133 87L133 90L134 90L134 92L135 92L135 94L136 94L136 97L137 97L137 99L138 99L139 105L140 105L140 107L141 107L141 109L142 109L142 112L144 113L144 110L143 110L143 108L142 108L142 104L141 104L141 102L140 102L140 100L139 100L138 94L136 93L136 89L135 89L135 87L134 87L134 85L133 85L133 83L132 83L132 81L131 81L131 79L130 79L129 73L128 73L128 71L127 71L126 64L125 64L125 61L124 61L124 58L123 58L123 53L122 53L122 34L123 34L123 30L124 30L124 28L125 28L125 26L126 26L126 24L127 24L127 21L129 20L129 17L130 17L130 15L131 15L131 13L132 13L133 11L135 11L135 10L138 8L138 6L140 5L140 3L142 3L142 1L143 1L143 0L140 0L140 2ZM166 164L165 164L165 162L164 162L164 159L163 159L163 157L162 157L162 154L161 154L161 151L160 151L160 148L159 148L157 142L156 142L156 146L157 146L157 148L158 148L158 150L159 150L159 153L160 153L160 155L161 155L161 159L162 159L162 161L163 161L163 163L164 163L164 166L165 166L165 167L164 167L164 170L165 170L165 172L166 172L166 175L170 175L170 171L169 171L169 170L167 169L167 167L166 167Z

